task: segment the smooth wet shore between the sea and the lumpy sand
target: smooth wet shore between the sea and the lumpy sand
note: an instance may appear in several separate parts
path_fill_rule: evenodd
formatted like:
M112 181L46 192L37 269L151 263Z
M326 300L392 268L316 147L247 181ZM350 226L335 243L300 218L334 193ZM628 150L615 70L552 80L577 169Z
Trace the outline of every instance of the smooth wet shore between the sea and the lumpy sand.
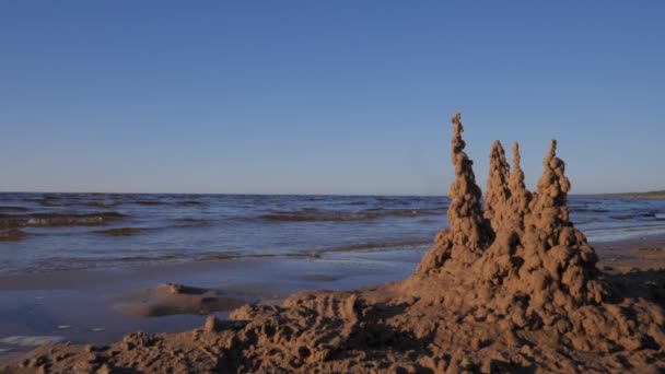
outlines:
M608 277L665 270L665 235L592 245L599 257L598 268ZM50 336L72 343L108 344L139 330L188 331L200 327L208 314L136 317L119 312L116 301L170 282L242 295L247 302L276 304L301 291L341 291L401 281L413 273L424 249L0 274L0 315L4 316L0 339ZM231 309L212 314L228 319ZM58 328L63 326L67 328ZM0 343L0 366L35 348Z

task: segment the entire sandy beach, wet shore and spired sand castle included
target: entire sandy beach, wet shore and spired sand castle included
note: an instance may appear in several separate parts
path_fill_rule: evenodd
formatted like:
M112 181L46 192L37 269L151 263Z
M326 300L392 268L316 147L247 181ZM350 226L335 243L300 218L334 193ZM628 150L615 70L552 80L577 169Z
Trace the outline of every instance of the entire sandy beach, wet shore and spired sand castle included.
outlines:
M72 332L42 336L51 343L24 354L5 352L2 371L665 370L665 236L588 244L570 222L556 141L533 192L518 145L511 166L494 142L481 199L460 116L452 122L450 226L427 252L7 276L1 297L24 297L16 320L27 315L24 322L48 322L42 331ZM118 341L135 327L143 331ZM39 340L25 338L3 343Z

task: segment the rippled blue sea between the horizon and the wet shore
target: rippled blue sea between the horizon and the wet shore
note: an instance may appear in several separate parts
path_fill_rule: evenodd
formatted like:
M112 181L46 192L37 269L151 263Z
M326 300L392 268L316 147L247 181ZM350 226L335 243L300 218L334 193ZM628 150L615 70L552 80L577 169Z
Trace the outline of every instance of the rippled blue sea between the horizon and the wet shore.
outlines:
M447 197L0 194L0 272L423 250ZM665 200L573 196L592 243L665 233Z

